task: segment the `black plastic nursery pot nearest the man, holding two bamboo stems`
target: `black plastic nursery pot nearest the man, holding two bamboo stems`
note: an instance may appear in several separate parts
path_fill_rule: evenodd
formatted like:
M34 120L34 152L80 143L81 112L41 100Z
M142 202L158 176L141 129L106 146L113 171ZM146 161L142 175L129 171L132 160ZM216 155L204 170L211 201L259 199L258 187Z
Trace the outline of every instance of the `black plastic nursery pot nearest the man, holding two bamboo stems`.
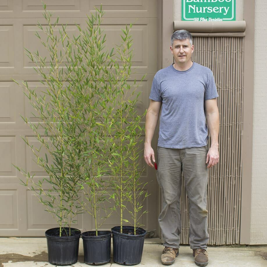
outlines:
M146 231L143 228L123 226L120 233L120 226L111 229L113 238L113 260L122 265L136 265L141 262Z

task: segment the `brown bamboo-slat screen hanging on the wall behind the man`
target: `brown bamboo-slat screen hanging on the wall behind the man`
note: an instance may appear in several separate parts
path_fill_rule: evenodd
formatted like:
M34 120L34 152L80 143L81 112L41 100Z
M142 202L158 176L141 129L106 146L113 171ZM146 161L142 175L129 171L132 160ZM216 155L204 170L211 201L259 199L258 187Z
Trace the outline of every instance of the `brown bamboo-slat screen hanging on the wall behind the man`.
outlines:
M244 38L194 37L193 61L209 67L218 90L220 161L209 170L210 245L238 244L240 236ZM181 194L181 243L188 244L188 199Z

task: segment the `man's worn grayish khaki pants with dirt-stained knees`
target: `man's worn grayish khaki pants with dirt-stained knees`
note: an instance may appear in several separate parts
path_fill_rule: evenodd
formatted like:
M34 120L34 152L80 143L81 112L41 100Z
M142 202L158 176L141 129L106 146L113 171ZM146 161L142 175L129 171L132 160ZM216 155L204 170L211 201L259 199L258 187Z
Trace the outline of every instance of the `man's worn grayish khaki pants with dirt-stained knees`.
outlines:
M207 249L207 183L206 156L208 147L164 148L158 147L157 180L161 187L163 207L159 225L163 245L179 248L181 233L181 174L183 172L189 200L189 244L191 249Z

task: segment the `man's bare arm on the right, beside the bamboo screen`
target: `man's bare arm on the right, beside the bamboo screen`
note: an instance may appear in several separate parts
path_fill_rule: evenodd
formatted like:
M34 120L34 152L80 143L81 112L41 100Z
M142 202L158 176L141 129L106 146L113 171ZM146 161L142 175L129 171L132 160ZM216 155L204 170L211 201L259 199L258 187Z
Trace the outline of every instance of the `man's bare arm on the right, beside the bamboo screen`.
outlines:
M217 99L205 100L205 110L211 135L211 146L207 154L206 163L209 163L207 168L211 168L219 162L219 110Z

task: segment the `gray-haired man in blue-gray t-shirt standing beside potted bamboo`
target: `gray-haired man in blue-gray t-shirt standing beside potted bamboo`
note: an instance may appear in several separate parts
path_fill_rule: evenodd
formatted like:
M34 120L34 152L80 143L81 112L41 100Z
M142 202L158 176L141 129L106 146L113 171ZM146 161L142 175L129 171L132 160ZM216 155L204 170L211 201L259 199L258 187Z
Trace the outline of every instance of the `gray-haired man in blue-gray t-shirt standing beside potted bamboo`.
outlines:
M179 253L181 233L181 172L183 171L189 200L189 243L195 264L208 264L207 243L207 182L208 168L219 161L218 93L213 73L207 67L191 61L194 51L192 36L188 31L173 33L174 63L159 70L153 80L151 99L145 123L146 163L154 167L154 150L151 141L160 117L157 148L156 176L162 190L163 209L159 225L165 246L161 261L174 263ZM207 147L208 129L211 146Z

